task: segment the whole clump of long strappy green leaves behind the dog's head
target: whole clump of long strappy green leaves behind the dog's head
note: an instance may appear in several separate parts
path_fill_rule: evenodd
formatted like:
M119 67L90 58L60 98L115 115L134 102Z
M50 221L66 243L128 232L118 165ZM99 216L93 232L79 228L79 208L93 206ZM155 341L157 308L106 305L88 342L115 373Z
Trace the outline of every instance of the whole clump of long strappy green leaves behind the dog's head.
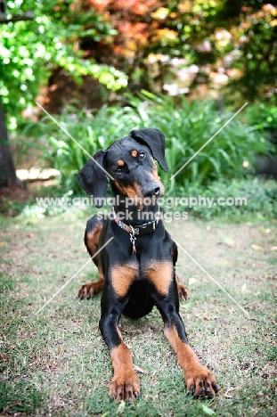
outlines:
M167 139L169 168L168 173L160 169L160 176L169 189L187 182L207 184L221 176L241 178L253 170L257 154L272 148L262 135L257 135L255 127L242 123L241 116L237 116L170 180L223 127L232 113L220 113L214 102L187 102L182 98L176 104L172 97L157 97L146 92L141 94L140 99L131 96L127 99L130 105L123 108L103 107L95 115L70 109L57 119L90 155L99 149L106 149L134 128L159 128ZM77 171L85 165L89 158L87 154L52 121L44 119L35 128L40 128L37 135L45 137L48 148L45 158L53 168L61 171L62 184L68 190L77 190ZM243 163L248 168L244 168Z

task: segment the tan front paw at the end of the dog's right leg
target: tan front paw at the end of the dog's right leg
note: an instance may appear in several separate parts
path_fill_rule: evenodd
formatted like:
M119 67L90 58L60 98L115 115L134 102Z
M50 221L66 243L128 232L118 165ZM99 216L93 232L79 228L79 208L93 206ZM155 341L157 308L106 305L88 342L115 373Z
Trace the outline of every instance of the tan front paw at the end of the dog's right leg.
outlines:
M185 372L185 380L187 394L191 394L195 398L212 398L220 389L216 384L216 378L213 373L200 364L193 366L193 368Z

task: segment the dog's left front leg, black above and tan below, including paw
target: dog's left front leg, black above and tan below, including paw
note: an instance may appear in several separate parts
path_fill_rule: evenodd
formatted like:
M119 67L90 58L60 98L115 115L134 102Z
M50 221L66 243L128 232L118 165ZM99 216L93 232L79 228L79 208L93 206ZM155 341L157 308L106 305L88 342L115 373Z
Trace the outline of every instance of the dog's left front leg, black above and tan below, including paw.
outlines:
M130 350L122 340L118 329L118 320L124 305L116 303L102 311L99 326L103 339L110 349L113 367L113 378L110 381L110 396L117 401L126 400L132 403L139 397L140 381L133 369L133 359Z

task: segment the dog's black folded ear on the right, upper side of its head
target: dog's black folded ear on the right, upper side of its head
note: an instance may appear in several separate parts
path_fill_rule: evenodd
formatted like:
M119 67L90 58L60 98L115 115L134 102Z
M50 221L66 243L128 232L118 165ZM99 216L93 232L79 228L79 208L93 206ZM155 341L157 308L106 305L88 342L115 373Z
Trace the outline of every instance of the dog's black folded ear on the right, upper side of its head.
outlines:
M165 160L166 139L165 135L159 129L132 130L130 136L136 141L148 145L153 158L159 162L159 165L164 171L168 171Z

